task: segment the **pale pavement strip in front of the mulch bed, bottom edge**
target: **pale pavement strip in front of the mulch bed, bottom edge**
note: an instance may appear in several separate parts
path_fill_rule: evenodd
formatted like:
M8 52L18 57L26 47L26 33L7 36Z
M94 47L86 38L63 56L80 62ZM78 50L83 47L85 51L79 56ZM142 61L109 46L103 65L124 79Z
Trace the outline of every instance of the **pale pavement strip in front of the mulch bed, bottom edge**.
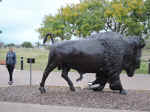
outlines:
M0 102L1 112L147 112ZM10 111L11 110L11 111Z

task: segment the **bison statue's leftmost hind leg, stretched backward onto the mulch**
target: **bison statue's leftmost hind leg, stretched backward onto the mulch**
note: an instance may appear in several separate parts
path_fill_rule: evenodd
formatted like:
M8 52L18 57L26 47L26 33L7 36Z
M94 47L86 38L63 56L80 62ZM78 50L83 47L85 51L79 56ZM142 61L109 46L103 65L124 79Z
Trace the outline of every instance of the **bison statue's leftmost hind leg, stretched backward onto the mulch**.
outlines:
M46 93L46 90L45 90L45 88L44 88L45 81L46 81L46 79L47 79L49 73L50 73L52 70L54 70L55 67L56 67L55 64L48 64L48 65L46 66L46 69L44 70L44 73L43 73L42 81L41 81L41 83L40 83L40 88L39 88L41 94Z

